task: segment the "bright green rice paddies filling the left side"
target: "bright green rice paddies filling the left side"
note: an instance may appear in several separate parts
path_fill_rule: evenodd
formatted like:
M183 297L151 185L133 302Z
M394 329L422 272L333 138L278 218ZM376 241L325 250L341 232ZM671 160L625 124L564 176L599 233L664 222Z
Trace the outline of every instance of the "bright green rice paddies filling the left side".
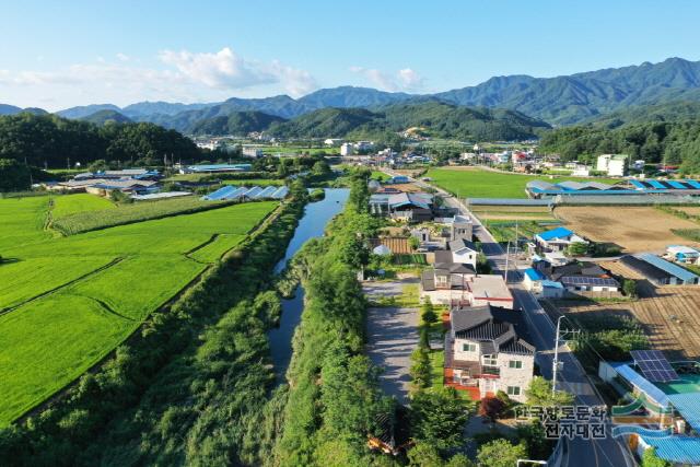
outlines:
M50 199L0 200L0 425L98 362L278 205L61 236L45 229L49 211L70 218L115 206L92 195Z

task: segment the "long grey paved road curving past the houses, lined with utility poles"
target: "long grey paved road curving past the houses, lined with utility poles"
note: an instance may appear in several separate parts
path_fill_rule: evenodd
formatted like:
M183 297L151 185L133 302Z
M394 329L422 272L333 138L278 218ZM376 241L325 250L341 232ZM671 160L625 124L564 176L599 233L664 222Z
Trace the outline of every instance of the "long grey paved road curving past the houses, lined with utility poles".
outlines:
M481 225L479 220L468 211L467 207L441 188L420 180L416 183L419 186L436 189L439 194L445 197L448 206L458 209L463 214L471 217L475 222L475 235L477 235L481 242L483 253L491 261L494 272L503 273L505 270L505 252L503 252L501 245L493 240L491 233ZM514 282L516 279L518 281ZM513 281L509 283L509 288L515 299L515 306L522 308L525 313L524 316L530 331L529 334L534 340L532 343L537 348L536 361L542 375L551 380L556 334L555 324L533 294L524 289L520 282L518 272L511 271L509 281ZM585 371L567 346L560 347L559 359L563 362L563 369L559 372L558 380L560 383L558 388L574 394L576 404L588 406L603 405L603 399L595 393L594 386L585 375ZM608 437L605 440L567 440L567 454L564 455L562 466L626 467L637 465L625 441L618 441L609 436L610 431L611 429L608 427Z

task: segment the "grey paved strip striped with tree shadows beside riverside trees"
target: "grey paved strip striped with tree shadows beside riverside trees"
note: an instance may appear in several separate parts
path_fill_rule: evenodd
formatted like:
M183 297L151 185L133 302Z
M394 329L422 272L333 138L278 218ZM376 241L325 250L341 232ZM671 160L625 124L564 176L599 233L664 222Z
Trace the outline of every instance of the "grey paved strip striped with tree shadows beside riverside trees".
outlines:
M364 282L368 296L400 295L402 287L416 279ZM411 352L418 347L418 310L381 307L368 310L366 351L375 365L384 367L380 384L385 394L408 402Z

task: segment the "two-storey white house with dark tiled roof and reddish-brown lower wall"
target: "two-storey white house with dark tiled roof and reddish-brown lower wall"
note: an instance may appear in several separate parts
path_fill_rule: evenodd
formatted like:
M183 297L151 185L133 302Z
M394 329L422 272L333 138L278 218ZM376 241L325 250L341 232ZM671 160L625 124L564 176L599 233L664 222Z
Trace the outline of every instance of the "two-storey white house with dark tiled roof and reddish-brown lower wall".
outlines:
M499 306L457 307L445 335L445 384L474 399L499 390L525 401L535 370L535 347L526 340L522 312Z

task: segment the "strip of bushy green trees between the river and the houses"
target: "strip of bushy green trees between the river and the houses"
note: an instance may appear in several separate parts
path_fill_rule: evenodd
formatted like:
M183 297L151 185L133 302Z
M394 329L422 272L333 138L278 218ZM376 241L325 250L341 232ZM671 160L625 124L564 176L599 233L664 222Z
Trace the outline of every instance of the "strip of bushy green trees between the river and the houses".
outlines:
M377 227L363 194L366 185L358 177L328 235L308 242L294 259L306 300L272 464L368 465L366 436L390 410L377 369L363 353L366 303L357 271L369 258L363 238Z

